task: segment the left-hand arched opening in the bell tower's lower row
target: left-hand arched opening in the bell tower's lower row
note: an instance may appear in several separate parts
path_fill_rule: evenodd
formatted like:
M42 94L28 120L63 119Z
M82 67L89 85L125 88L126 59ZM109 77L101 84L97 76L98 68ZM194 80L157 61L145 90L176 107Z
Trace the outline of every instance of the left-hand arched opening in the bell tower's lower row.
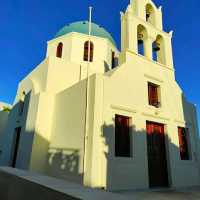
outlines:
M147 32L144 26L138 25L137 28L137 40L138 40L138 54L145 55L145 42L147 38Z

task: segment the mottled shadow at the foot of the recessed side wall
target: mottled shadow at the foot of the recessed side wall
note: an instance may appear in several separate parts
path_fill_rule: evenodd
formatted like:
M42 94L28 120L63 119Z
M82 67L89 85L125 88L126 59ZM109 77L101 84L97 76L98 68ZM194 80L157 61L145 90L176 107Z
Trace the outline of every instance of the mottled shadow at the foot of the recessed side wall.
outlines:
M72 182L82 183L79 173L80 156L78 149L50 147L48 152L47 174Z

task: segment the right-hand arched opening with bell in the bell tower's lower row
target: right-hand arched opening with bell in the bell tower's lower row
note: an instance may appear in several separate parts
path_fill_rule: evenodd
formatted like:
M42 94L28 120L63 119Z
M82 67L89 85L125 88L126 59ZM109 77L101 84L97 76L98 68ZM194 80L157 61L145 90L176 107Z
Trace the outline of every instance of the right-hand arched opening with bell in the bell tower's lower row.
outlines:
M165 64L165 46L161 35L156 37L156 40L152 44L152 50L153 60L161 64Z

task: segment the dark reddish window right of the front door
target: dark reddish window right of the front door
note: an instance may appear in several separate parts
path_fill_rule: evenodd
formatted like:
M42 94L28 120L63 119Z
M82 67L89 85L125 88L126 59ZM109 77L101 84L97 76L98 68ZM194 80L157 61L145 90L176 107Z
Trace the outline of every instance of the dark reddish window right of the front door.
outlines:
M189 160L189 149L188 149L188 129L178 127L178 138L179 138L179 151L181 160Z

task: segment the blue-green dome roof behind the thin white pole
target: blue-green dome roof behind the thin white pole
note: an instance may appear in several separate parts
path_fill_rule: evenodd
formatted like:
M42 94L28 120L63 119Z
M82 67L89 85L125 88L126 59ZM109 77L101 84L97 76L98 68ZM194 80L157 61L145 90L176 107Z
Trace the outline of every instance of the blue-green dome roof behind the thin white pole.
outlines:
M79 21L79 22L74 22L69 25L64 26L58 33L56 34L55 38L66 35L71 32L78 32L78 33L83 33L88 35L88 21ZM107 38L109 39L114 46L116 46L116 43L110 33L108 33L104 28L100 27L99 25L92 23L92 33L91 35L97 36L97 37L102 37L102 38Z

